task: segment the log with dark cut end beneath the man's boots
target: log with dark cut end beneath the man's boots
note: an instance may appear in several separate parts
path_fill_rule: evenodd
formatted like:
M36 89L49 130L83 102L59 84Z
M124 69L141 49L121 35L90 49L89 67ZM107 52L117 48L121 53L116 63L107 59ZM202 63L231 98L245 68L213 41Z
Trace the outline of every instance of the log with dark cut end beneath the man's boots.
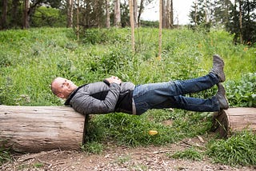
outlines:
M221 137L249 130L256 133L256 108L230 108L214 113L213 129Z

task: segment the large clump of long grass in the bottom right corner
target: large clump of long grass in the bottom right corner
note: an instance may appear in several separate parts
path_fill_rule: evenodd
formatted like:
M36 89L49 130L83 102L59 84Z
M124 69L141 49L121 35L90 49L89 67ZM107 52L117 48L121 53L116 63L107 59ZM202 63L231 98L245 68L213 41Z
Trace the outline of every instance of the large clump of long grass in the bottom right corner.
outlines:
M224 165L256 165L256 136L238 133L227 140L211 141L207 155Z

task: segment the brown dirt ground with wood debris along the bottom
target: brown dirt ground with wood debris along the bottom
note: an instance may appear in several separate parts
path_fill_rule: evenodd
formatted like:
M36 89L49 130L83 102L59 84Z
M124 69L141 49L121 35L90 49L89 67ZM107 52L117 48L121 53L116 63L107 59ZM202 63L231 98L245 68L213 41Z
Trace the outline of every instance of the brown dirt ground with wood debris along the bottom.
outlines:
M256 170L256 167L231 167L213 164L209 159L189 161L173 159L170 154L190 148L204 147L202 137L186 139L168 146L122 147L109 143L101 154L82 151L52 150L14 156L1 170L86 171L86 170Z

